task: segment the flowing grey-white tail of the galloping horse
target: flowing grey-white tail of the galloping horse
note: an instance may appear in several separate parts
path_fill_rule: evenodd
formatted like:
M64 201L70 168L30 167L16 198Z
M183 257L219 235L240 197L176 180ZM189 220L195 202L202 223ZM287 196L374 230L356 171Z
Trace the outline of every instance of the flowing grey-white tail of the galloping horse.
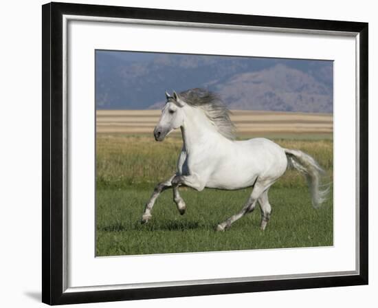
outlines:
M284 148L284 150L289 166L306 176L313 207L319 208L329 193L329 185L322 186L320 184L321 177L325 174L325 171L310 155L299 150L289 150L288 148Z

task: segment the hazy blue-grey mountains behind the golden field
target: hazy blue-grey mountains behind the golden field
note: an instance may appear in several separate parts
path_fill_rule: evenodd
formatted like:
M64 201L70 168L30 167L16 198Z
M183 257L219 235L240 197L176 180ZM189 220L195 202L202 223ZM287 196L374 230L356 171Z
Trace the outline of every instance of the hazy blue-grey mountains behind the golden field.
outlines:
M329 61L158 54L146 61L96 55L98 109L159 109L164 91L216 91L230 109L333 111Z

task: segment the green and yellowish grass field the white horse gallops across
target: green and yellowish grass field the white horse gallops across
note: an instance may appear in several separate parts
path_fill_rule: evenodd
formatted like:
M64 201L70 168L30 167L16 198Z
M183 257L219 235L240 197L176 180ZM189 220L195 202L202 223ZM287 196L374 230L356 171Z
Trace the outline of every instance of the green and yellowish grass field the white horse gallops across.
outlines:
M329 135L269 137L285 148L298 148L315 157L332 181ZM324 205L313 209L304 177L293 170L269 190L273 212L264 232L259 229L258 208L226 232L214 231L219 222L243 207L251 188L203 192L181 188L187 205L183 216L173 202L172 190L167 190L155 203L153 219L141 225L144 204L155 184L175 172L180 149L177 135L164 142L154 142L149 135L97 136L97 256L333 245L332 190Z

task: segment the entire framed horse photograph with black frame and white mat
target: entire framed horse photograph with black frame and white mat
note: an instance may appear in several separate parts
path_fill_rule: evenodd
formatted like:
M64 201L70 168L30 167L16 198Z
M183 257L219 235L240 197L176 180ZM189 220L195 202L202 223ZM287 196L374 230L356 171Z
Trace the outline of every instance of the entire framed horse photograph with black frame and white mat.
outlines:
M43 303L368 284L368 24L43 5Z

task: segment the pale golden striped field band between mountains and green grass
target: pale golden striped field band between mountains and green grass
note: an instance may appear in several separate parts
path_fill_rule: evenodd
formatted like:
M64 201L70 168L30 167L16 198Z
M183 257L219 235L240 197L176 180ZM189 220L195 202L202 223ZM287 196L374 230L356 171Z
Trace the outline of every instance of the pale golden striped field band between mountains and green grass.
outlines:
M152 133L159 121L159 110L98 110L97 133ZM239 134L308 133L331 134L333 115L326 113L293 113L275 111L232 111L231 120Z

